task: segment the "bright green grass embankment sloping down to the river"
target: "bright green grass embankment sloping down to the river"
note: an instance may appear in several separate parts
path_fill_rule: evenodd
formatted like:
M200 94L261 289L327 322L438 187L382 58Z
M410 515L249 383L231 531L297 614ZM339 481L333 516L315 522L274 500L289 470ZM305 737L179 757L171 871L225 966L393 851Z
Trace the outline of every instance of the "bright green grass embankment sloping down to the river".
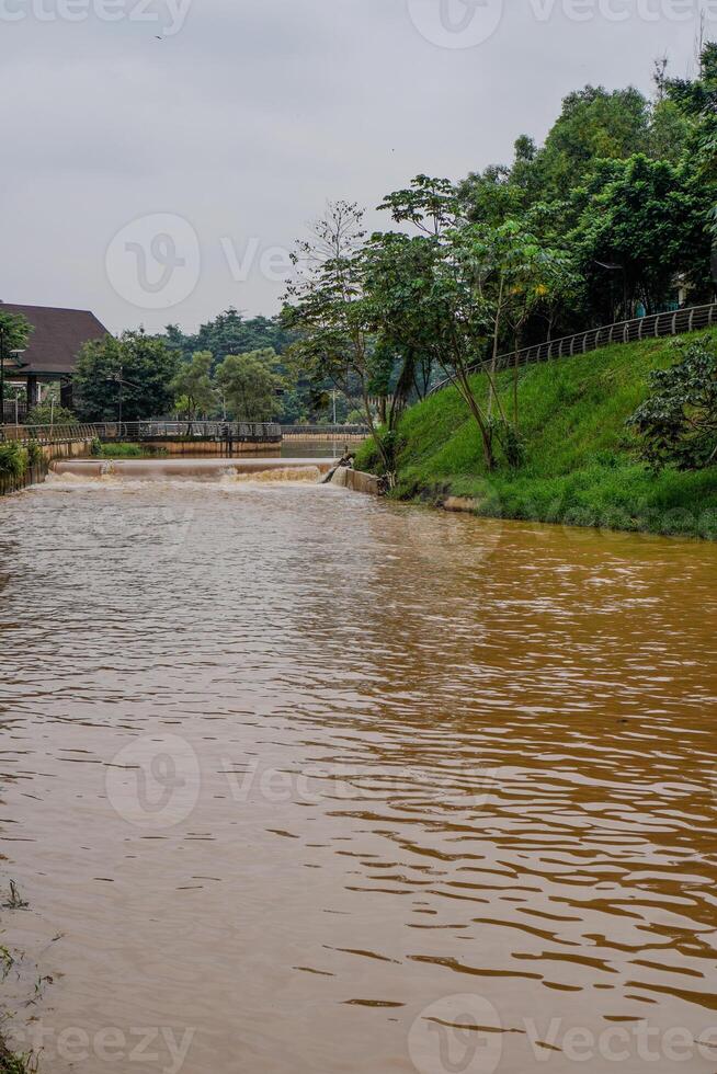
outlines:
M695 333L717 341L717 331ZM625 421L649 391L649 374L676 358L670 340L615 345L520 372L520 469L488 473L478 430L454 388L411 407L398 430L397 499L441 504L470 498L479 515L717 539L717 466L649 470ZM485 376L475 378L486 397ZM499 393L512 413L512 373ZM367 442L356 467L378 469Z

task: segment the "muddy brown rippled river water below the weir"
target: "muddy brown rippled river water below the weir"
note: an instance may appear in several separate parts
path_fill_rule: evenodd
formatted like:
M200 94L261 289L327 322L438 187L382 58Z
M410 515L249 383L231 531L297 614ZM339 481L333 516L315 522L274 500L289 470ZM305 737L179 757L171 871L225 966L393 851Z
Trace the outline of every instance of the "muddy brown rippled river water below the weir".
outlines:
M42 1071L717 1071L717 547L309 481L0 518Z

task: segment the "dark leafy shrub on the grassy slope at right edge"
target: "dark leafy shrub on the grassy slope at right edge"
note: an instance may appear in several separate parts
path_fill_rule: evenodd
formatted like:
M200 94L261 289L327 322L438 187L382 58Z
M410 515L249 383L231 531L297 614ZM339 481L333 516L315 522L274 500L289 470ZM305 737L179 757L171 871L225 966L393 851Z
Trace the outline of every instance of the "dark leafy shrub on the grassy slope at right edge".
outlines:
M627 420L642 437L640 455L656 470L717 464L717 353L714 343L676 344L682 361L650 375L651 393Z

